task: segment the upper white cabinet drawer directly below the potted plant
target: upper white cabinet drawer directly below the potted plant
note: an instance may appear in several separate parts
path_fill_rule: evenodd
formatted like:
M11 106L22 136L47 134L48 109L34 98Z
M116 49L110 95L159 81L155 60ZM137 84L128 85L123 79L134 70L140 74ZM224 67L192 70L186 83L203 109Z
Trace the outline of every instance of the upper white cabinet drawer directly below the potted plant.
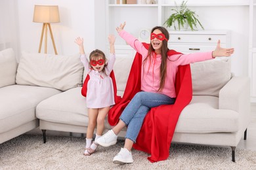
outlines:
M220 40L226 43L226 35L184 35L184 34L170 34L169 42L196 42L196 43L217 43Z

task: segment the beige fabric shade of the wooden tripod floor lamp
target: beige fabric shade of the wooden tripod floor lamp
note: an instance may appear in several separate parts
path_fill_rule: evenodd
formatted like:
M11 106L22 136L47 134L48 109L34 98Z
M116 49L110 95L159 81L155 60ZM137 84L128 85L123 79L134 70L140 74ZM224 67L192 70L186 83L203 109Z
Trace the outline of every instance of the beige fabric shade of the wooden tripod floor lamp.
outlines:
M35 5L35 9L33 12L33 22L60 22L58 6Z

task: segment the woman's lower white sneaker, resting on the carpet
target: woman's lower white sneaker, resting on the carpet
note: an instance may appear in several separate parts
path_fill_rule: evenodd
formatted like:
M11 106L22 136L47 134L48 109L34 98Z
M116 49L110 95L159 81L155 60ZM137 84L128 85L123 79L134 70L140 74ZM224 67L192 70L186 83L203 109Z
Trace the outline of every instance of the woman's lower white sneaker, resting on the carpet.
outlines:
M127 148L121 148L120 152L114 157L114 163L133 163L133 156L131 156L131 151Z

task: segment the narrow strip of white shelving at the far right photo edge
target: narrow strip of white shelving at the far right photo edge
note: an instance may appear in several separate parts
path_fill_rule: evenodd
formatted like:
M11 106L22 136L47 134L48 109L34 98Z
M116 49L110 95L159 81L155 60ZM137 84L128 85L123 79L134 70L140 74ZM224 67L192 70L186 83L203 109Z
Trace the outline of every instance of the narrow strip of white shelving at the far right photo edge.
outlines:
M256 0L249 4L249 61L248 75L251 78L251 102L256 103Z

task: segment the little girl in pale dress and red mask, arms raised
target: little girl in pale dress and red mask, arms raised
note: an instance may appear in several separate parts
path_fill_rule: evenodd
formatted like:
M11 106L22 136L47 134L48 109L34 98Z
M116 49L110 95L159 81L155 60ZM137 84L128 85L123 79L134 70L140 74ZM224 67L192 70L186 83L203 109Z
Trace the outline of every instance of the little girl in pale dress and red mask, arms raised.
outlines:
M105 54L100 50L93 50L89 56L89 61L85 56L83 48L83 39L77 37L75 43L79 45L81 54L81 62L85 67L90 79L87 83L87 108L89 124L86 133L85 156L89 156L95 152L98 147L96 139L102 135L104 130L104 120L110 106L115 104L114 88L110 73L114 67L116 60L114 42L116 37L109 35L110 58L107 61ZM96 127L96 137L93 142L93 132Z

